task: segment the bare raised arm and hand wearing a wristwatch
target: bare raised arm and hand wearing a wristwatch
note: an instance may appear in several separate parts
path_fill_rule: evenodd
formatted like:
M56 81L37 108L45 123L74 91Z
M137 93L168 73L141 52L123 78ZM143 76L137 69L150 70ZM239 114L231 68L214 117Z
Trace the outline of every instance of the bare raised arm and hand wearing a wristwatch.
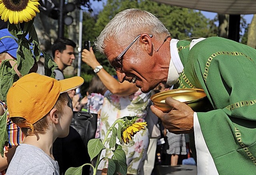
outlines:
M84 49L82 52L82 61L85 62L92 69L95 69L97 66L100 66L100 63L97 61L92 47L90 51ZM135 84L124 81L123 83L118 82L115 78L113 78L104 68L102 68L97 76L100 78L102 83L107 87L107 89L115 94L120 96L130 95L136 91L138 91L138 87Z

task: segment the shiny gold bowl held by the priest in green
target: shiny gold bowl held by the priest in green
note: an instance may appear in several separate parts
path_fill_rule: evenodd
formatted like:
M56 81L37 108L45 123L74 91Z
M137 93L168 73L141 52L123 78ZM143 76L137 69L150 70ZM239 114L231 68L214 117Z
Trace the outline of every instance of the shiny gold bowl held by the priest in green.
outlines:
M171 107L165 103L167 97L172 97L180 102L186 103L196 112L212 110L212 105L206 97L203 89L173 89L156 93L150 97L153 105L163 112L169 112Z

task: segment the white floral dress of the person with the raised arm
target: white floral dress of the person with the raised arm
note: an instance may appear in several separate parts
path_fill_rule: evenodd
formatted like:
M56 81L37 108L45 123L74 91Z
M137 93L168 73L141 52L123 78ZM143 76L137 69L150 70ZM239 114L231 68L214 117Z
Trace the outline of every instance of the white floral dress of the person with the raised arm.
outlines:
M124 116L141 116L137 122L144 122L147 115L147 106L150 102L150 93L142 93L140 90L129 96L120 97L113 95L110 91L106 91L104 102L100 114L100 138L103 140L106 131L114 123L114 121ZM116 127L118 127L116 125ZM111 133L110 133L111 135ZM110 136L109 135L109 136ZM119 140L117 140L119 143ZM134 135L132 141L128 145L122 145L126 153L126 163L128 165L128 174L137 175L144 165L149 144L148 129L142 130ZM105 144L108 146L108 142ZM102 157L112 157L110 151L105 149L102 151ZM102 170L108 167L108 162L103 159L98 166Z

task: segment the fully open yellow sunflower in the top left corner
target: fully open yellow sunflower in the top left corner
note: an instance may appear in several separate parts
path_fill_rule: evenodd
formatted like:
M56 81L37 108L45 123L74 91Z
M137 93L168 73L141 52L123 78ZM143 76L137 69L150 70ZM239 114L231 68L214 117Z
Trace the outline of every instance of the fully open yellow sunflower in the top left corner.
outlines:
M10 24L28 22L36 16L39 6L38 0L0 0L0 16Z

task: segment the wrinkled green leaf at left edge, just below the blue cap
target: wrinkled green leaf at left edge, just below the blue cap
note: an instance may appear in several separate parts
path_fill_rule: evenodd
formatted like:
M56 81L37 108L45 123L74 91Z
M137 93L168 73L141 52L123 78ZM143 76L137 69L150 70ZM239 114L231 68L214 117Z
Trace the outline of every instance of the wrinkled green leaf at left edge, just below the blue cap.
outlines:
M19 79L9 60L3 60L0 65L0 100L6 102L9 88Z

